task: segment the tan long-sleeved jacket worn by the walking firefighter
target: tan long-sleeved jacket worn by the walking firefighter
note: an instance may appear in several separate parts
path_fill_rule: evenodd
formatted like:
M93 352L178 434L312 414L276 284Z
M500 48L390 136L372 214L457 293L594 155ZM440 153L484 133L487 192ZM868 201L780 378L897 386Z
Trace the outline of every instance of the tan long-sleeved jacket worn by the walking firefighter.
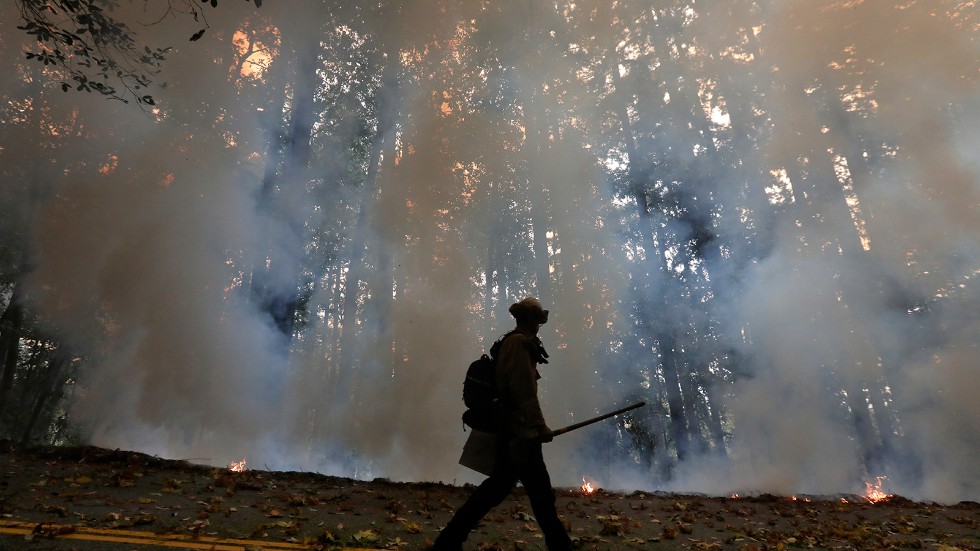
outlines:
M504 339L497 356L497 391L510 410L510 433L525 440L550 432L538 402L541 375L532 354L540 345L536 336L518 331Z

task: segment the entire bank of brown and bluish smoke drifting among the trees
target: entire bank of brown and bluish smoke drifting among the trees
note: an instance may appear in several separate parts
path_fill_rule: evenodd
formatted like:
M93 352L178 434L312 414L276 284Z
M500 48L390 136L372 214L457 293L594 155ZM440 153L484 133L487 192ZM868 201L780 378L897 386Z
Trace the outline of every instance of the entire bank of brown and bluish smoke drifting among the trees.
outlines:
M727 456L689 458L665 485L639 466L642 461L611 464L610 450L590 441L590 434L603 433L588 429L549 446L557 484L577 485L588 475L626 489L828 494L859 491L863 481L885 473L892 491L910 497L955 501L980 495L980 377L972 364L980 326L970 289L980 266L976 41L921 2L850 4L761 3L758 12L734 19L716 6L698 6L702 11L689 25L692 47L738 28L760 41L767 70L746 72L722 61L712 67L715 80L730 83L730 90L758 93L772 117L771 135L737 151L742 163L777 169L800 156L814 159L808 177L790 176L799 201L771 219L755 213L753 243L766 244L763 257L735 263L738 269L728 268L727 259L709 266L712 313L730 339L723 346L741 358L733 384L706 389L719 397L735 427ZM278 27L283 56L316 43L322 31L316 22L332 16L322 7L309 9L318 11L274 5L260 11L263 21ZM632 384L643 379L637 366L645 360L617 355L630 332L628 305L635 297L627 291L622 232L612 220L637 221L607 196L596 144L572 130L577 117L593 124L608 118L605 107L582 105L579 98L592 97L584 86L567 95L551 93L558 85L552 77L576 74L580 62L547 50L553 59L541 63L539 52L555 42L551 32L529 33L533 43L517 48L510 44L514 22L521 20L503 8L463 3L458 9L419 5L368 26L405 48L413 42L428 46L447 64L466 58L449 52L452 40L445 38L471 38L466 33L476 31L470 25L481 40L501 44L498 54L516 70L453 74L471 76L473 86L484 78L495 83L494 93L533 108L536 120L554 122L564 114L576 122L563 123L564 134L548 137L547 154L522 160L526 166L510 164L525 128L506 114L479 109L441 116L469 106L454 88L460 83L430 74L385 98L402 114L401 126L388 130L401 145L398 158L384 159L380 170L397 166L398 178L363 194L327 186L321 204L311 205L306 185L289 185L311 175L289 172L291 180L279 183L270 208L262 191L268 163L275 162L265 143L268 128L247 93L241 101L222 100L231 85L215 67L226 66L227 59L215 65L194 46L175 51L163 75L170 86L157 94L168 106L159 123L131 106L82 100L86 132L104 143L80 139L84 147L58 151L58 160L84 167L117 159L118 166L98 178L52 176L56 192L32 216L36 270L28 284L50 330L85 358L72 416L91 443L217 465L247 456L250 465L274 469L475 481L456 465L465 438L461 373L509 329L508 301L537 291L547 291L543 298L552 310L542 328L552 364L541 369L551 426L633 397ZM241 6L224 4L208 14L211 28L203 41L228 41L232 29L251 17ZM549 24L542 13L524 15ZM624 39L612 22L596 18L589 27L592 43L605 45L610 55ZM158 25L141 36L183 45L191 34L185 31ZM656 105L664 94L641 95L646 105ZM821 121L838 119L822 110L830 98L844 96L855 108L873 100L878 115L852 128L824 128ZM292 99L285 98L287 109ZM119 125L120 118L126 124ZM227 135L212 135L216 121ZM346 131L357 132L353 126ZM852 179L857 222L838 216L846 212L833 204L844 200L841 195L821 194L839 182L832 168L815 160L828 151L853 155L851 133L881 143L865 162L888 160L884 169L850 167L854 174L875 174ZM690 148L690 129L665 125L656 134L658 142L645 147L672 151L671 162L700 162L696 153L681 151ZM350 136L337 142L345 138ZM763 147L755 148L757 143ZM4 143L0 158L10 162L16 150ZM445 159L471 163L447 166ZM527 173L531 177L523 180L514 176ZM721 204L740 200L736 180L718 175L701 182L681 206L699 208L706 197ZM461 196L468 199L459 209ZM498 274L506 276L512 294L476 304L483 282L474 274L485 265L487 249L508 250L513 243L502 236L539 231L528 216L514 214L527 202L549 206L536 213L545 221L552 254L545 270L561 279L535 288L536 266L515 256L511 273ZM349 266L331 277L391 295L372 294L355 304L355 324L338 317L347 297L311 284L309 303L329 307L311 313L308 328L287 351L261 301L245 296L247 279L264 273L273 297L305 283L297 281L295 266L305 255L306 232L330 223L356 227L357 213L331 210L334 203L365 209L363 247L370 260L364 272ZM798 226L803 219L820 222ZM739 244L746 231L739 218L726 220L730 227L716 229L729 258L758 254L755 245ZM856 224L864 224L867 243L857 238ZM661 229L682 232L681 225ZM851 241L842 245L842 236ZM838 247L843 254L827 253ZM642 243L629 252L654 250ZM393 266L398 269L387 270ZM380 280L378 274L388 273L398 279ZM651 277L670 281L665 274ZM707 317L689 302L647 300L649 317L663 323ZM341 358L320 342L318 328L327 323L343 327L332 333L343 341ZM862 407L871 411L867 419L858 415ZM895 438L867 440L861 432L867 422ZM870 472L872 467L881 472Z

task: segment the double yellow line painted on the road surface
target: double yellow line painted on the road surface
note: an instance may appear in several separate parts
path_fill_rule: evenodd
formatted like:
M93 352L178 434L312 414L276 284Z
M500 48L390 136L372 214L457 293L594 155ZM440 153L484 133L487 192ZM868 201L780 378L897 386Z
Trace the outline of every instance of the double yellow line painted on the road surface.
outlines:
M206 549L213 551L245 551L246 548L263 550L294 550L312 549L312 545L300 543L278 542L267 540L244 540L234 538L194 537L183 534L155 534L153 532L138 532L133 530L114 530L109 528L89 528L85 526L59 525L47 522L18 522L0 520L0 534L30 535L38 526L47 530L39 531L39 537L56 537L69 540L103 541L111 543L128 543L137 545L153 545L157 547L177 547L182 549ZM71 530L58 533L59 530ZM345 547L348 551L372 551Z

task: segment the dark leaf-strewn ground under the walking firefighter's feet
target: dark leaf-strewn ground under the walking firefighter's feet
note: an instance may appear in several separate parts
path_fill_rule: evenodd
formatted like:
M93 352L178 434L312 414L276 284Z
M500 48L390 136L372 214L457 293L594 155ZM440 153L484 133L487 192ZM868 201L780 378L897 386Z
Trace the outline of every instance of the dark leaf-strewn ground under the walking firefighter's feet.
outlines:
M0 548L41 549L38 543L58 535L118 529L251 540L244 549L261 549L263 542L425 549L471 491L314 473L237 473L93 447L3 451L0 526L28 527L30 533L8 531ZM580 488L562 488L558 507L583 549L980 549L975 502L602 490L584 495ZM544 549L520 489L484 519L465 548Z

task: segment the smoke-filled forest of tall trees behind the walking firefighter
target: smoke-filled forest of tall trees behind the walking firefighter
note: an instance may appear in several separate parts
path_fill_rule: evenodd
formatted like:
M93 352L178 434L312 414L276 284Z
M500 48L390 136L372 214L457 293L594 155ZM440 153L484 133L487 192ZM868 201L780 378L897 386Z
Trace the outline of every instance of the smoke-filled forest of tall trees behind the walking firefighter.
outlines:
M551 310L559 484L980 499L974 0L16 0L0 438L471 481Z

